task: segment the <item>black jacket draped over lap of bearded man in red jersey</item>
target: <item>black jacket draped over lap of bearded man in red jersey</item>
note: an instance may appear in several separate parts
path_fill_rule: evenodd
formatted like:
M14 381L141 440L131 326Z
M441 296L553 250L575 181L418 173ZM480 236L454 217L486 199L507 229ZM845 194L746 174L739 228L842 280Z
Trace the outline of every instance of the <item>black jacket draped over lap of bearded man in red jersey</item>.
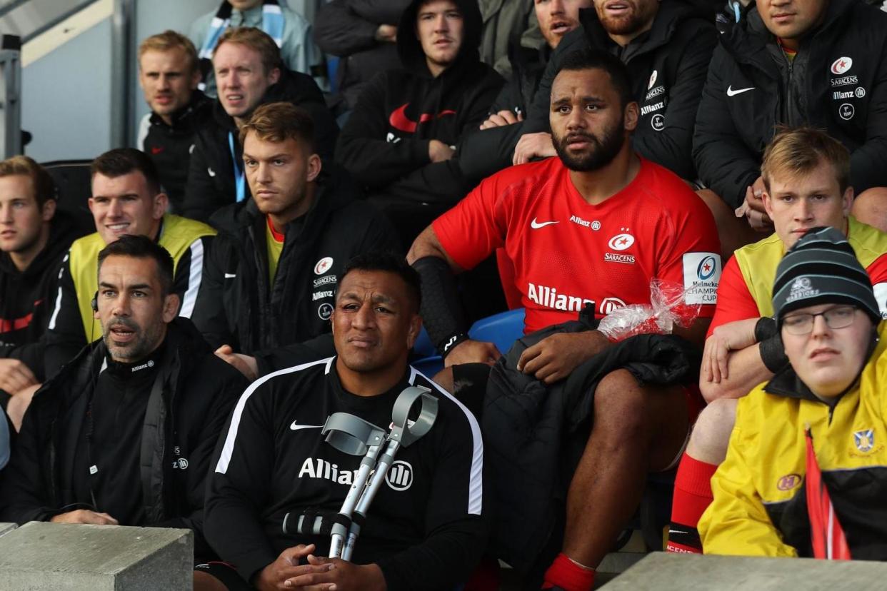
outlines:
M519 338L491 370L482 416L486 460L496 483L491 552L525 576L550 564L553 556L546 553L560 548L552 537L562 533L567 487L587 443L600 379L624 368L642 384L698 380L698 350L671 335L626 338L551 386L516 369L523 351L543 338L595 326L580 320L537 330Z

